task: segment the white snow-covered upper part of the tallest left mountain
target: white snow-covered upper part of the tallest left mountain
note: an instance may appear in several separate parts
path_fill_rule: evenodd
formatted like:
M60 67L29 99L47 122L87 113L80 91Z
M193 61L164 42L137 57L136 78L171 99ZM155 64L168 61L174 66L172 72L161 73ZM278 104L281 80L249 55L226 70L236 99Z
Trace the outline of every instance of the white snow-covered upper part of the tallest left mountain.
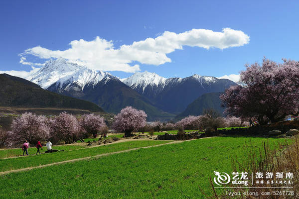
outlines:
M68 90L70 85L75 84L83 90L87 84L96 85L105 76L112 75L103 71L91 70L64 59L56 59L47 61L40 70L26 79L38 84L43 89L56 87L58 90Z

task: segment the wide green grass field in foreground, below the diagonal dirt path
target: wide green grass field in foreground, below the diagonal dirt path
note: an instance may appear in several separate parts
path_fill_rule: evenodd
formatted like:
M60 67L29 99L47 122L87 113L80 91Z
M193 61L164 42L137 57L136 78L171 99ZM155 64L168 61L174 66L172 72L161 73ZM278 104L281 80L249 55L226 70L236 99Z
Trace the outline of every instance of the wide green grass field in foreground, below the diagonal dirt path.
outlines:
M243 161L248 146L258 150L263 141L274 147L285 139L215 137L11 173L0 176L0 198L205 199L199 186L212 195L213 171L233 172L231 161Z

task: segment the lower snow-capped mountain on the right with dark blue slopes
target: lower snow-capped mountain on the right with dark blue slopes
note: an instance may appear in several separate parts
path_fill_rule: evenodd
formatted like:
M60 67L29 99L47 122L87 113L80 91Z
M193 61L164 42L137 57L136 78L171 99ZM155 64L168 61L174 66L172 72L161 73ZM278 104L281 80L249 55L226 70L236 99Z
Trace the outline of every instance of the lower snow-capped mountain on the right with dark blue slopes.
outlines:
M122 81L157 107L172 113L183 111L189 103L205 93L224 92L235 85L227 79L197 74L186 78L166 79L149 72L135 73Z

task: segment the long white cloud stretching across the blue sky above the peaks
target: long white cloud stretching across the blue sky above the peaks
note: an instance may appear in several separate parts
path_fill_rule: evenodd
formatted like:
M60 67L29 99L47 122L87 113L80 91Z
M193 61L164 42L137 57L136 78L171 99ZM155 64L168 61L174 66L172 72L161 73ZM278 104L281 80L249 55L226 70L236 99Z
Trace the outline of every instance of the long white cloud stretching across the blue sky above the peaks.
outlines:
M42 59L62 57L80 65L103 71L140 71L138 64L132 66L132 62L142 64L161 65L171 62L166 54L183 49L183 46L202 47L205 49L243 46L249 43L249 36L240 30L223 28L222 32L214 32L207 29L192 29L183 33L165 31L155 38L147 38L135 41L131 45L122 45L115 49L113 41L107 41L96 37L92 41L83 39L69 43L67 50L49 50L41 46L26 49L20 56L34 55ZM37 65L25 62L21 58L21 64Z

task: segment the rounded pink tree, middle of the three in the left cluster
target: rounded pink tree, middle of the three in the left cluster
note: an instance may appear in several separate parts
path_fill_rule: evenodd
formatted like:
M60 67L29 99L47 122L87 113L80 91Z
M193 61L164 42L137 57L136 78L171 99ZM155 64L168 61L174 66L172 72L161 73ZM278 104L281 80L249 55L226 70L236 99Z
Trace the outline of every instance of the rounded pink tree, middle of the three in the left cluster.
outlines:
M66 112L60 113L50 121L52 140L63 140L66 144L80 139L81 128L77 118Z

